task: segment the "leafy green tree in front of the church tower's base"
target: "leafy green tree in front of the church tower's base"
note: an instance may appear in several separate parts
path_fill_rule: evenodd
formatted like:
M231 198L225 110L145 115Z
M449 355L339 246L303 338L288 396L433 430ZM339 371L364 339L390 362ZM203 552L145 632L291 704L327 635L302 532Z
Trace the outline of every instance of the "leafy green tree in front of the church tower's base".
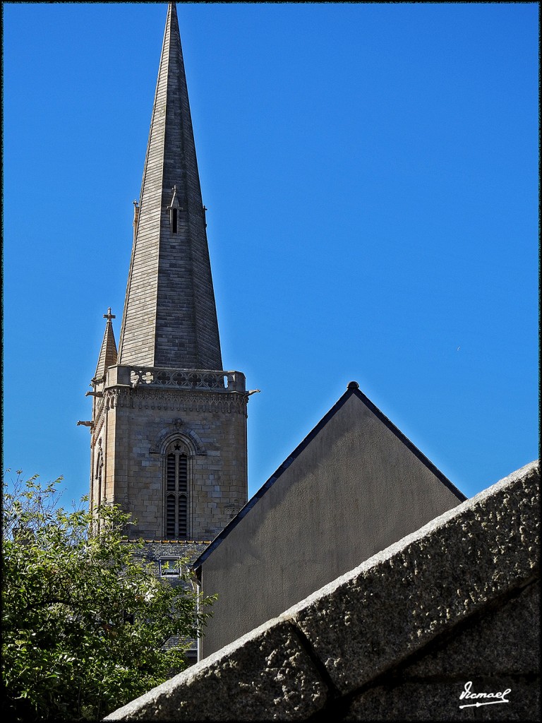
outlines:
M4 484L4 720L100 720L184 669L189 642L165 642L209 615L188 573L172 587L126 542L129 515L66 511L59 482Z

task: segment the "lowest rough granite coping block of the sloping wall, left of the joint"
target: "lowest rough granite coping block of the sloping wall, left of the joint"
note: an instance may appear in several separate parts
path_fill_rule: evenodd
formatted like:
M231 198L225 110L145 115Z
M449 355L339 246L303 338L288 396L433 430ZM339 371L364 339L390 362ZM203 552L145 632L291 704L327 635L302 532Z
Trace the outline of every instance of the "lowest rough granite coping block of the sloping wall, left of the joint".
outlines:
M326 696L291 625L273 620L105 720L305 720Z

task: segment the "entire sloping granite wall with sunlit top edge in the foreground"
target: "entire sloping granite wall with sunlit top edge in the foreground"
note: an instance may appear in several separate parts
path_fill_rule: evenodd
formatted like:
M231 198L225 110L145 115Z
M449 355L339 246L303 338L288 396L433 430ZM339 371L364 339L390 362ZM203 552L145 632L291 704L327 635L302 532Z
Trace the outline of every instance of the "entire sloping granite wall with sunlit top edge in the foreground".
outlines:
M538 721L539 484L525 466L106 721Z

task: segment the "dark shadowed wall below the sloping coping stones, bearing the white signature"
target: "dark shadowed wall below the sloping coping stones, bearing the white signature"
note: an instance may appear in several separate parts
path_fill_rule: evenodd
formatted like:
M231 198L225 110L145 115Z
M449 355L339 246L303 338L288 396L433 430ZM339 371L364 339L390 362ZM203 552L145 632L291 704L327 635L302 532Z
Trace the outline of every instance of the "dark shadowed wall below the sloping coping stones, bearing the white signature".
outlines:
M337 721L535 720L540 708L539 610L535 581L439 636L363 690L335 701L333 717ZM469 682L475 694L509 689L509 703L476 706L483 699L461 699Z

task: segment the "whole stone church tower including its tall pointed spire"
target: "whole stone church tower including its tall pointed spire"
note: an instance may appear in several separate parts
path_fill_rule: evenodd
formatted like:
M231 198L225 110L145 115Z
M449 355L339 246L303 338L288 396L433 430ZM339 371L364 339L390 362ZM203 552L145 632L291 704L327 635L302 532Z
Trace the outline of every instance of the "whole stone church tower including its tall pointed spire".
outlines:
M245 504L241 372L222 369L175 3L168 6L119 350L111 309L93 391L90 502L132 537L209 540Z

